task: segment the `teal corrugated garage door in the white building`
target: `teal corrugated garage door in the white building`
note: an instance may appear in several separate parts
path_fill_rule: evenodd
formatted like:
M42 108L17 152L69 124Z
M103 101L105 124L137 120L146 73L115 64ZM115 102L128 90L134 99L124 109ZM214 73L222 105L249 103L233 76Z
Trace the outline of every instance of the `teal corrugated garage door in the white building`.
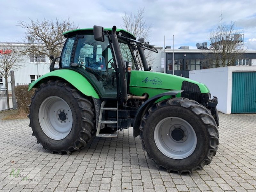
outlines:
M231 113L256 113L256 71L233 72Z

